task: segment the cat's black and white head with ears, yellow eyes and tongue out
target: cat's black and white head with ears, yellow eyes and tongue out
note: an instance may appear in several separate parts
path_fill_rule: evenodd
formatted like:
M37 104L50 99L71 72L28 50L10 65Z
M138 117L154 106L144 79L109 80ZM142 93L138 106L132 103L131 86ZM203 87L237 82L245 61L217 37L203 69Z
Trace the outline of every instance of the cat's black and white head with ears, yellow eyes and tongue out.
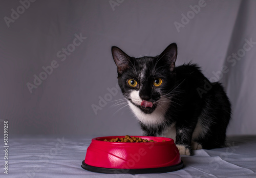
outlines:
M119 86L133 107L152 114L167 104L168 92L175 80L175 43L156 57L130 57L117 47L112 47L112 54L117 65Z

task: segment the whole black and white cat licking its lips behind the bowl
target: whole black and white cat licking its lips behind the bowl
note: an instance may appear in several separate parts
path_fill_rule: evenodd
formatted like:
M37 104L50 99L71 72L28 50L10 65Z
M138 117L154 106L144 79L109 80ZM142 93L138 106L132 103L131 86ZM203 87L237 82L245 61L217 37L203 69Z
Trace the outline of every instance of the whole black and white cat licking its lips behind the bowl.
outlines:
M225 145L231 106L222 85L196 64L175 66L176 43L159 56L134 58L112 47L118 83L145 136L174 139L180 154Z

